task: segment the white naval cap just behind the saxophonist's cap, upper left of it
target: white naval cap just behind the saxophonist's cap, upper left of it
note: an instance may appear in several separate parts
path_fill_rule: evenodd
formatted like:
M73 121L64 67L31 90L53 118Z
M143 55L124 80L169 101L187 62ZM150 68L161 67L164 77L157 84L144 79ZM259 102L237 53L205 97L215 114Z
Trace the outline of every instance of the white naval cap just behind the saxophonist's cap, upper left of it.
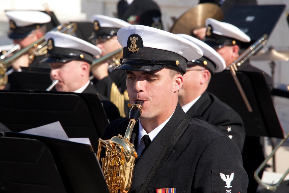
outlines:
M110 38L117 34L122 27L131 25L122 19L109 17L105 15L93 15L90 17L93 24L94 38Z

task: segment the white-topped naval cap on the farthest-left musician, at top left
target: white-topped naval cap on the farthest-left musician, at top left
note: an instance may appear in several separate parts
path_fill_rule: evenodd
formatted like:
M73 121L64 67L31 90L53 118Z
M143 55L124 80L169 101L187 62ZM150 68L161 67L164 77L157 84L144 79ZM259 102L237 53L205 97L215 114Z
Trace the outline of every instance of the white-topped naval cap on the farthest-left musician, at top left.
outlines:
M32 30L51 21L51 17L41 11L11 10L5 11L10 22L9 38L21 39L29 35Z

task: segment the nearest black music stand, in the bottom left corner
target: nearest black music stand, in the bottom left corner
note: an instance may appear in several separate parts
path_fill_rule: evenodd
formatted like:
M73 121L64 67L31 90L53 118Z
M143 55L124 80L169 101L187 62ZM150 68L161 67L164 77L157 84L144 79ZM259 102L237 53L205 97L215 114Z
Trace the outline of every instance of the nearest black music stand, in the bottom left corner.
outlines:
M109 192L90 146L22 133L1 134L0 192Z

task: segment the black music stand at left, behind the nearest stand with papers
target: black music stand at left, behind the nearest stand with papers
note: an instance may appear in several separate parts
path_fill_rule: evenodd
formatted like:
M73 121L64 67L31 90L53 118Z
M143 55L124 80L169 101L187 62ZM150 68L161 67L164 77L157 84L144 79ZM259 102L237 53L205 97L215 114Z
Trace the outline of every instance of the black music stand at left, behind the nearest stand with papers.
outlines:
M88 137L97 150L108 125L97 94L0 91L0 97L0 122L13 132L59 121L69 138Z

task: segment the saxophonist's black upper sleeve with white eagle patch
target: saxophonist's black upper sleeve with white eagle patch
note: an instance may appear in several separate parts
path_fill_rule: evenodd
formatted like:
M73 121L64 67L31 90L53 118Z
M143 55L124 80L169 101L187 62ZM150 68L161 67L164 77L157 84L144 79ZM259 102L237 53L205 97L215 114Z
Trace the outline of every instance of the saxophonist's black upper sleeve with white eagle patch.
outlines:
M248 176L233 141L222 136L208 144L198 160L192 186L197 192L247 192Z

